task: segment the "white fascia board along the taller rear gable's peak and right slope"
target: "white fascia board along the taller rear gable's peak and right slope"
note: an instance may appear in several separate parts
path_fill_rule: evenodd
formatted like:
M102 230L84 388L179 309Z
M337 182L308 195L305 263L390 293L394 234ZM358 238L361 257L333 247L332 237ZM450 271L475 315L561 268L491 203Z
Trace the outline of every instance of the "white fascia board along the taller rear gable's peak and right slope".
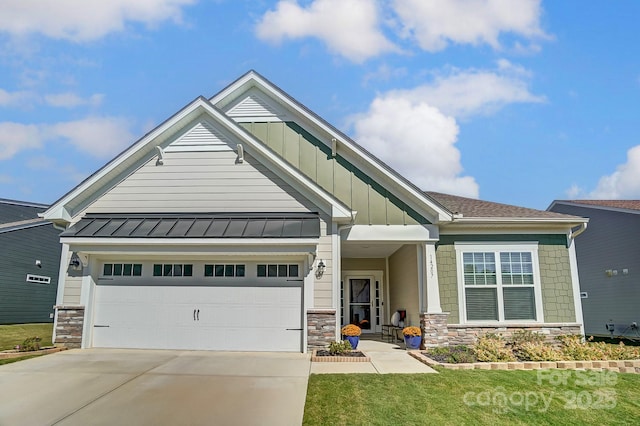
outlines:
M452 214L450 212L434 204L432 200L430 200L428 197L426 197L417 189L413 188L410 185L407 185L404 179L401 178L397 174L397 172L392 172L387 167L379 164L377 160L374 160L371 157L371 154L365 153L364 151L362 151L362 149L354 146L349 141L348 138L344 137L344 135L337 133L335 129L328 126L322 120L319 120L314 114L310 114L305 109L300 108L300 106L297 105L296 102L292 102L291 99L289 99L287 96L284 96L280 92L280 90L276 90L274 87L272 87L271 83L265 81L260 75L258 75L253 71L245 74L243 77L241 77L239 80L234 82L232 85L228 86L222 92L218 93L213 98L211 98L210 101L216 106L224 107L226 104L231 102L233 95L239 94L244 90L249 90L249 88L251 88L252 86L257 86L261 90L271 94L272 96L277 98L278 102L294 110L299 116L303 117L306 121L311 123L313 126L316 126L317 128L321 129L322 131L334 137L336 140L340 142L341 145L343 145L344 147L347 147L349 151L355 154L357 158L362 159L366 163L367 169L371 169L375 171L376 174L378 174L378 176L376 177L378 178L384 177L387 180L390 180L396 187L403 190L406 193L406 195L409 195L413 197L415 200L417 200L418 201L417 203L410 204L411 208L420 212L425 210L424 208L425 206L428 206L428 208L430 208L435 212L435 216L438 222L449 222L452 220ZM420 204L422 204L422 206L420 206ZM429 214L428 216L433 216L433 214Z

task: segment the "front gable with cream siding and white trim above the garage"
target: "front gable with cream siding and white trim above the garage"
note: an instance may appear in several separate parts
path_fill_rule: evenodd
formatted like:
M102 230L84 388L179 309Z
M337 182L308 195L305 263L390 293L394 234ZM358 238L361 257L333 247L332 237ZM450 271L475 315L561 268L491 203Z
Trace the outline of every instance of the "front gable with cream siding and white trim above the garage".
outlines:
M84 212L231 210L322 211L337 221L352 217L344 204L202 97L64 195L42 217L66 224Z

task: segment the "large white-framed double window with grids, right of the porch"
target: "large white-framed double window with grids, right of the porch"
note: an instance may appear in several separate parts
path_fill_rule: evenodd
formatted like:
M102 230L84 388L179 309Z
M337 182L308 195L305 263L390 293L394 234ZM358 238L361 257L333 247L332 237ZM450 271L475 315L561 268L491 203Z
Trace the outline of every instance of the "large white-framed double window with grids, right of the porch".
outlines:
M536 244L456 244L461 318L537 321L541 294Z

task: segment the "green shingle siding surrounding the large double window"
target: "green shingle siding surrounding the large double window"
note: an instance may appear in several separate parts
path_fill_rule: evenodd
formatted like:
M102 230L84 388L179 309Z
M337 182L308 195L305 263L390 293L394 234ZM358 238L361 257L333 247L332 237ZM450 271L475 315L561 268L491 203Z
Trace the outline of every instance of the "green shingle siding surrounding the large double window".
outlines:
M441 235L437 247L440 303L450 312L449 323L460 322L455 242L537 241L540 282L545 322L575 322L576 313L571 283L567 237L559 235Z

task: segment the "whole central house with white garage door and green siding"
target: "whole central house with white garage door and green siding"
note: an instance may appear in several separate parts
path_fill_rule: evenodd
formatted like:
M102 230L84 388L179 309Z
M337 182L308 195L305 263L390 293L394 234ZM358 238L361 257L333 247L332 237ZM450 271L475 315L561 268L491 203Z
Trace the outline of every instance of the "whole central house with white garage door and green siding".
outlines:
M585 219L425 193L254 71L42 217L67 228L60 345L306 352L398 310L427 346L582 326Z

